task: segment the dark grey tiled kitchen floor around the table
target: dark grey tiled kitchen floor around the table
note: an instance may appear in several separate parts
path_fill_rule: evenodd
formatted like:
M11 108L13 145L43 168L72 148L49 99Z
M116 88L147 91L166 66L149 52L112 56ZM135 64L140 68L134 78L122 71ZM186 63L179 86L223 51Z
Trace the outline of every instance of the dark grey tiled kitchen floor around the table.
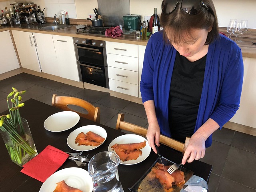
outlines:
M51 105L52 94L75 96L100 107L100 123L115 128L118 113L125 120L148 127L143 105L110 96L106 92L81 89L30 74L18 74L0 81L0 112L7 110L6 96L12 87L26 90L23 99L34 98ZM82 111L82 109L77 109ZM84 111L82 111L84 112ZM210 192L256 192L256 137L223 128L201 161L213 165Z

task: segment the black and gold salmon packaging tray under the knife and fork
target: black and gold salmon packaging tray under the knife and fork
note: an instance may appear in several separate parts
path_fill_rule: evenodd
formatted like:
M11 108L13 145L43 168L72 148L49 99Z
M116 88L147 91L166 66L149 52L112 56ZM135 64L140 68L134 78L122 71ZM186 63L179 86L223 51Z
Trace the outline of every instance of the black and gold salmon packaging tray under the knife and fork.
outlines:
M174 164L174 162L162 157L162 162L165 166L167 165L172 165ZM140 184L142 184L143 179L150 173L151 168L156 164L156 163L161 163L160 157L157 158L157 160L154 162L154 164L152 164L152 166L147 170L147 172L131 187L129 188L130 191L132 192L138 192L138 188L140 186ZM189 178L194 174L192 171L188 170L187 168L184 168L182 166L180 166L178 168L178 170L181 170L184 172L184 176L185 176L185 183L189 180ZM180 190L183 188L183 185L180 186L173 186L170 190L170 192L180 192ZM144 189L143 189L144 188ZM157 178L155 178L154 180L145 180L143 183L143 186L140 187L140 192L166 192L166 190L164 190L162 184L160 184L160 182L158 181Z

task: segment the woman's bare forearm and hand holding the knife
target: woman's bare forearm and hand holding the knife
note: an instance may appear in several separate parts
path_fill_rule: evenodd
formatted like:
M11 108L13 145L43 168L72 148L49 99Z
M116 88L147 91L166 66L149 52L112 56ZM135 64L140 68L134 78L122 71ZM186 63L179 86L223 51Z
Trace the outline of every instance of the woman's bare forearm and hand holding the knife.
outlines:
M159 146L160 127L158 125L158 121L156 118L154 100L148 100L144 102L144 108L148 118L148 132L147 132L148 144L152 148L152 150L155 153L157 153L154 143L156 142L156 145Z

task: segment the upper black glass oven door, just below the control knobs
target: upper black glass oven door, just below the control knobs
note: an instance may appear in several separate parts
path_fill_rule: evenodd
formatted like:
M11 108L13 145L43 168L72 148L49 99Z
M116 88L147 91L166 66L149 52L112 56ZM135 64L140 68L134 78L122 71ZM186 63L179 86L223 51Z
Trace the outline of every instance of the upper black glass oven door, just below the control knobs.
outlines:
M104 48L85 47L82 44L76 44L78 52L78 61L97 66L104 66Z

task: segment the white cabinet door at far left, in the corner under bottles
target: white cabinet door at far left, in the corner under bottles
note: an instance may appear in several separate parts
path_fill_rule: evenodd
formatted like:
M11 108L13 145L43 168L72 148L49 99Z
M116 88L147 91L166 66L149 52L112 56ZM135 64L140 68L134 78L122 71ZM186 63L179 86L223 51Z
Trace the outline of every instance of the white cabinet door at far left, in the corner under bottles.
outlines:
M0 74L20 68L9 31L0 32L1 62Z

